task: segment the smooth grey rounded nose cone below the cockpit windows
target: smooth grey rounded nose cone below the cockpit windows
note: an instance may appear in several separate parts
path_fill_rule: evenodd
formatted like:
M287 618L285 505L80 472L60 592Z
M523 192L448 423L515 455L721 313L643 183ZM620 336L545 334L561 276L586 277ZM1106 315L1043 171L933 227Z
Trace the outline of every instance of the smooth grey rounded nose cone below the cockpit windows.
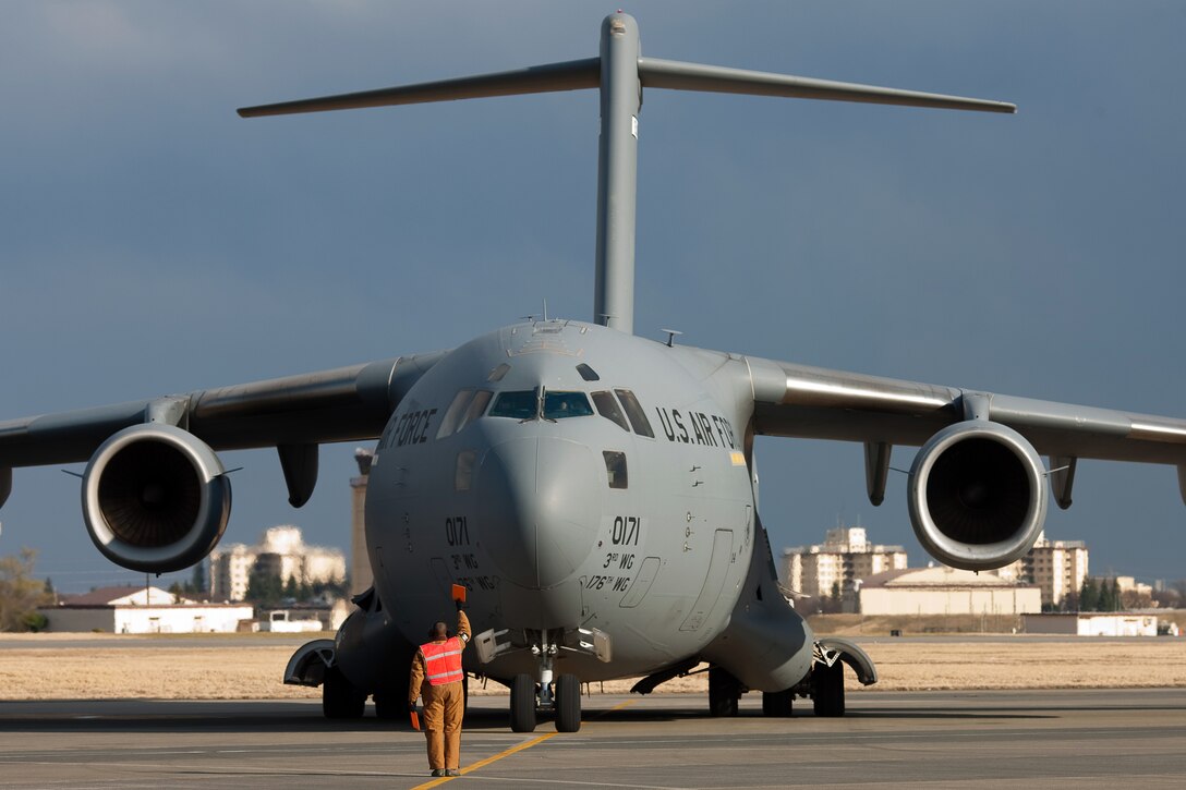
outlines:
M569 578L597 540L593 452L573 441L524 437L496 445L478 471L483 542L502 575L543 590Z

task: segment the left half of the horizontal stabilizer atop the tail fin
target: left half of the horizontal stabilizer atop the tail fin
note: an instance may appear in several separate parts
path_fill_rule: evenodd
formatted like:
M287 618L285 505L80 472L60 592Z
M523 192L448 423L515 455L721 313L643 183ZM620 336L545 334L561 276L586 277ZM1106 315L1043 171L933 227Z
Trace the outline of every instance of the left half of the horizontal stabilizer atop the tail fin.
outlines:
M356 94L302 98L279 104L240 108L242 117L261 115L294 115L296 113L323 113L364 107L391 107L395 104L421 104L446 102L458 98L486 98L490 96L514 96L516 94L546 94L559 90L597 88L601 79L600 58L585 58L565 63L483 74L473 77L457 77L414 85L396 85L364 90Z

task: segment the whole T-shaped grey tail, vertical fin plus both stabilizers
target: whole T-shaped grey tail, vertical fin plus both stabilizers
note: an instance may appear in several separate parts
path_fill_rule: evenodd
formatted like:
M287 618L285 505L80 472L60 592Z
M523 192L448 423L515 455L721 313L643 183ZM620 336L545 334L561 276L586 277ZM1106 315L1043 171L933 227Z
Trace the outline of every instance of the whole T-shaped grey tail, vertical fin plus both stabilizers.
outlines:
M1014 104L1006 102L644 58L640 53L638 24L630 14L618 12L601 23L601 45L595 58L244 107L238 114L243 117L289 115L582 88L598 88L601 93L593 320L627 333L635 331L635 202L638 181L638 112L643 103L643 88L988 113L1016 112Z

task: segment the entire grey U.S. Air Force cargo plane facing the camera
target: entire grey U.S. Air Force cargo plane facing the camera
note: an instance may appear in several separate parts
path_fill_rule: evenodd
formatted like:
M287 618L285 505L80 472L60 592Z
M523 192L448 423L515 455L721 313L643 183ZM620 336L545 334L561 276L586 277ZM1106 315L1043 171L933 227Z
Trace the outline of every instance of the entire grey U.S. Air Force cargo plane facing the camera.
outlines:
M0 422L0 503L18 466L88 460L82 510L114 562L170 572L202 560L230 515L218 451L275 447L289 502L312 495L323 442L377 440L365 529L374 586L334 639L286 682L323 688L324 712L402 715L427 623L468 587L473 676L510 687L510 725L581 721L582 682L635 690L708 665L709 709L761 692L844 711L843 668L869 657L816 638L778 585L755 499L758 435L862 442L880 504L894 446L914 533L974 571L1022 556L1047 488L1071 504L1080 458L1178 466L1186 420L971 391L726 353L633 335L635 199L644 90L691 90L1013 113L1014 106L644 57L636 21L601 24L597 57L253 107L247 117L598 89L592 320L543 317L448 351Z

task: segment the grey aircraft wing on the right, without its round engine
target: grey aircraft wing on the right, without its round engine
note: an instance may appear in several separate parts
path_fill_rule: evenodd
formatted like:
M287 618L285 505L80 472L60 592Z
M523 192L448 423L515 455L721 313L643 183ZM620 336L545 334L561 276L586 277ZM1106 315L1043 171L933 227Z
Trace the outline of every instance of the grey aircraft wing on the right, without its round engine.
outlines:
M1186 501L1186 420L1182 419L770 359L747 362L754 395L754 431L763 435L865 442L874 504L880 499L874 496L878 486L872 472L873 467L888 464L888 447L925 445L948 426L970 420L1007 426L1021 434L1038 454L1050 457L1056 498L1064 508L1070 505L1070 484L1079 458L1175 465ZM884 453L884 461L879 460L879 453Z

